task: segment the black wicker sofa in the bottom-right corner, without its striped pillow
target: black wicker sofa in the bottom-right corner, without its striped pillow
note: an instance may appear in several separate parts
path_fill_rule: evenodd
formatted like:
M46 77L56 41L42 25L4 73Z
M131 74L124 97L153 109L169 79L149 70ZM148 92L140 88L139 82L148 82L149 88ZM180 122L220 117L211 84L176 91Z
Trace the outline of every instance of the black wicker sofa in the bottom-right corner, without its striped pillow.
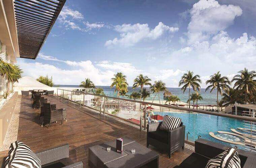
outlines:
M211 158L216 157L230 147L231 146L200 138L195 141L195 152L187 157L179 166L175 166L175 168L205 168ZM242 168L255 167L256 153L239 149L237 152L241 160Z

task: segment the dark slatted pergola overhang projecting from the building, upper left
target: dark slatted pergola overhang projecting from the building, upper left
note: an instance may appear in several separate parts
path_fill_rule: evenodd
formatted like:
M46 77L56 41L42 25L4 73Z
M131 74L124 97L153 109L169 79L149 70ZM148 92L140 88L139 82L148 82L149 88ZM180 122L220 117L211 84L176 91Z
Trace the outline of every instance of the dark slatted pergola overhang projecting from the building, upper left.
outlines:
M35 59L66 0L14 0L21 58Z

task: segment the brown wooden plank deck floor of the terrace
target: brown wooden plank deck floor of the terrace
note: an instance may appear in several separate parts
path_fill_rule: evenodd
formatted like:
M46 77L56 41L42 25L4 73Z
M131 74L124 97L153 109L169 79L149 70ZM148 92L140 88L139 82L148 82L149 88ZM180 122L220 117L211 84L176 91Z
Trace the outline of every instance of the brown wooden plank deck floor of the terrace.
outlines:
M60 99L47 96L58 108L67 109L67 122L63 125L53 123L50 128L42 127L38 122L39 109L32 108L30 96L21 97L18 140L25 142L33 151L40 151L60 144L69 143L70 158L74 162L82 161L88 167L88 148L112 139L127 136L146 146L147 133L120 123L107 116L100 116L87 108L79 108L77 104L63 102ZM171 159L167 153L158 151L153 146L150 149L160 154L159 167L174 167L179 165L193 151L186 149L175 152ZM0 156L8 151L0 152Z

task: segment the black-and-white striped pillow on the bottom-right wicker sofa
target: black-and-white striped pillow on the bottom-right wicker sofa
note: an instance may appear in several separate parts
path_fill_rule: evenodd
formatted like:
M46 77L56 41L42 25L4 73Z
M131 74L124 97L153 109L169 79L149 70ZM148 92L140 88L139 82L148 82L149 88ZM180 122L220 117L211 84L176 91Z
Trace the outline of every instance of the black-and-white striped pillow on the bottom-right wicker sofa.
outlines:
M241 161L237 151L229 148L209 160L205 168L241 168Z

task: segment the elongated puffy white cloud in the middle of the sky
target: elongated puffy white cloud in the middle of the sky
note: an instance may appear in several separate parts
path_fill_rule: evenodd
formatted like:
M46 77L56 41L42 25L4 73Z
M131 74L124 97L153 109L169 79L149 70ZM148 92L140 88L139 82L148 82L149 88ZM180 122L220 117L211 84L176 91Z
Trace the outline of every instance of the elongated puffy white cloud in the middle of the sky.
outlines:
M115 26L115 30L120 33L120 38L106 41L105 46L120 45L129 47L145 39L155 40L166 32L177 32L179 28L169 27L159 22L154 29L150 29L148 24L137 23L134 25L117 25Z

